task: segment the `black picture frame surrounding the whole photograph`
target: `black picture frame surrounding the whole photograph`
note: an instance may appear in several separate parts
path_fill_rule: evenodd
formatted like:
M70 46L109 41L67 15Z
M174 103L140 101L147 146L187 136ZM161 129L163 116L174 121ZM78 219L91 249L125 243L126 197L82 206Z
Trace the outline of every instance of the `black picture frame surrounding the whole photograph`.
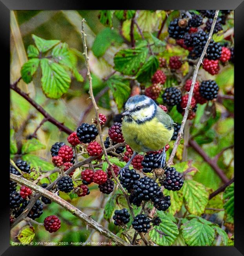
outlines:
M119 3L118 3L119 4ZM237 110L237 114L239 113L239 118L242 117L243 107L241 104L241 100L243 98L242 94L239 93L240 87L243 87L241 81L243 81L243 51L244 48L242 43L244 41L244 0L204 0L204 1L194 1L194 0L158 0L158 1L146 1L142 0L140 2L132 2L132 1L123 1L121 2L121 6L115 6L114 3L106 4L104 2L95 3L89 1L81 1L81 0L0 0L0 26L1 26L1 57L2 64L5 66L7 70L9 70L9 39L10 39L10 10L56 10L56 9L93 9L96 7L97 9L231 9L235 10L235 80L240 81L238 83L238 88L235 97L235 110ZM3 81L1 90L3 91L4 98L9 97L9 89L7 88L9 82L9 72L2 71L1 80ZM240 77L240 78L239 78ZM236 83L237 84L237 83ZM9 152L7 150L9 144L9 127L6 125L9 121L9 113L4 111L7 107L6 103L1 101L2 115L6 115L6 121L2 120L1 134L6 138L5 146L6 150L3 150L2 153L2 163L6 164L6 167L2 169L2 184L1 184L1 196L4 197L1 200L1 217L0 217L0 253L1 255L43 255L44 253L53 254L56 253L56 250L62 250L62 253L65 253L64 250L68 250L69 254L74 253L75 247L25 247L25 246L10 246L10 228L9 228L9 197L8 193L4 193L8 188L8 180L9 173L5 171L8 168L8 157ZM238 119L237 116L237 119ZM241 120L242 121L242 120ZM243 137L241 134L243 133L240 123L237 122L235 125L235 142L240 146L242 146ZM239 131L238 131L239 130ZM3 138L4 140L4 138ZM2 141L2 140L1 140ZM243 205L243 169L242 169L242 149L236 150L235 152L235 175L236 175L236 186L235 186L235 246L234 247L147 247L146 250L150 250L145 253L155 253L153 250L157 249L157 253L179 253L180 255L228 255L228 256L238 256L244 255L244 231L243 231L243 213L242 213L242 205ZM4 181L4 182L3 182ZM5 190L2 188L5 184ZM7 185L6 185L7 184ZM3 190L2 190L3 189ZM79 248L78 248L79 249ZM82 247L82 254L84 253L94 253L94 250L117 250L118 247L93 247L92 252L90 247ZM90 250L90 251L89 251ZM143 253L143 247L126 247L119 248L121 253L125 253L127 250L131 253ZM112 252L111 252L112 253Z

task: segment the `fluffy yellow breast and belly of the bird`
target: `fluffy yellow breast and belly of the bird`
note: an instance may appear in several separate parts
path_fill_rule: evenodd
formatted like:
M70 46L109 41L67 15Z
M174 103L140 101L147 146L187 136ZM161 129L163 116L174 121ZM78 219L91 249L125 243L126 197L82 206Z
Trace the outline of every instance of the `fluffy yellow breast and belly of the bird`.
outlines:
M141 124L122 122L122 133L126 143L135 152L160 150L166 146L173 135L174 128L168 130L156 117Z

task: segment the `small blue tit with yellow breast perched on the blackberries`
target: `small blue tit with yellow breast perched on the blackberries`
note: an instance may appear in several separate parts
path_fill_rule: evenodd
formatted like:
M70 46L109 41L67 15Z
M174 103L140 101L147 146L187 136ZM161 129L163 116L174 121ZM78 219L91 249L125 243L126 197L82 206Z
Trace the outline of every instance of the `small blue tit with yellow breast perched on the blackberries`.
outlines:
M171 140L174 126L177 124L154 100L145 95L131 96L124 108L122 134L134 153L126 166L120 169L120 176L123 176L139 152L158 151L164 148L157 160L160 160L160 168L164 168L165 146Z

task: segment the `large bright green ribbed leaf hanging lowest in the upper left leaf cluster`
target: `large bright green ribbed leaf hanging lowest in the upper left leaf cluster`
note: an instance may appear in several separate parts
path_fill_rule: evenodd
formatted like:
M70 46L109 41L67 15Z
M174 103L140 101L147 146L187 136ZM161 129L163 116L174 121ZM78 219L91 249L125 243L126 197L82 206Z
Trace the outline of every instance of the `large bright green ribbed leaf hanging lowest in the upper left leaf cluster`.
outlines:
M62 66L41 59L42 90L48 98L58 99L69 89L71 79Z

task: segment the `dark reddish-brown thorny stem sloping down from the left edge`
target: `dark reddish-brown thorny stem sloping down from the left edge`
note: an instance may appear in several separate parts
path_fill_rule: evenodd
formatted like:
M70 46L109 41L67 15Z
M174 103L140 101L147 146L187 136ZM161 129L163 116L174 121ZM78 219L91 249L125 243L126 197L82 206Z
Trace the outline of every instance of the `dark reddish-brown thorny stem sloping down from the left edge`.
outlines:
M44 117L47 119L47 121L49 121L52 124L54 124L55 126L57 126L61 131L66 132L66 134L71 134L73 132L67 126L65 126L61 122L58 122L54 117L49 115L49 113L47 113L47 111L44 108L42 108L42 106L40 106L37 102L35 102L35 100L30 98L27 93L22 91L16 85L17 85L16 82L14 84L10 84L10 88L12 90L14 90L16 93L18 93L20 96L25 98L25 100L27 100L37 111L39 111L42 115L44 115Z

